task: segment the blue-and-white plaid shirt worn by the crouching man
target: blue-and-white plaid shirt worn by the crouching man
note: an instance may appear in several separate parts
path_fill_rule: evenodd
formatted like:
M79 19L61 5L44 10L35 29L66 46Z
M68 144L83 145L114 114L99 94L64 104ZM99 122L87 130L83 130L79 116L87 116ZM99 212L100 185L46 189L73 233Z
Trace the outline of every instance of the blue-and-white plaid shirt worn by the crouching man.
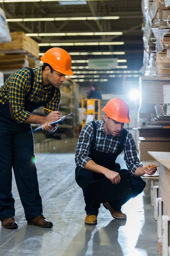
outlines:
M96 144L95 150L102 151L105 153L116 153L121 140L122 135L117 137L109 136L104 131L104 120L95 120L96 122ZM89 154L91 153L91 141L93 139L93 125L91 122L85 124L82 131L79 134L79 140L77 142L75 161L76 165L85 168L86 163L88 163L91 158ZM135 176L135 171L139 166L143 166L137 157L136 144L133 139L132 134L127 131L124 142L124 160L128 171L132 176Z

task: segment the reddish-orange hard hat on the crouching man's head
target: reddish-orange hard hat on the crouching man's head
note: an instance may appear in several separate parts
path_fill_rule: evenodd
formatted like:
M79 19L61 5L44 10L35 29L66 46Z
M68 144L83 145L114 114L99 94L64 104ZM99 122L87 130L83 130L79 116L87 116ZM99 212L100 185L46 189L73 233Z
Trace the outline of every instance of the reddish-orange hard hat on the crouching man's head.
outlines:
M102 111L105 111L106 115L117 122L129 123L129 106L123 100L114 98L108 101Z

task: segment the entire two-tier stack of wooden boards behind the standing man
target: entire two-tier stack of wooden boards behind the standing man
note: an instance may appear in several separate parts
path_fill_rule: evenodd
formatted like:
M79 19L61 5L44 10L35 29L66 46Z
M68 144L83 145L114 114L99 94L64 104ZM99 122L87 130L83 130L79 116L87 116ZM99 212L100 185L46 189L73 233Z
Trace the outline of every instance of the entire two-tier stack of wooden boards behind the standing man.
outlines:
M0 70L13 72L21 67L35 67L39 46L24 32L11 32L11 42L0 44Z

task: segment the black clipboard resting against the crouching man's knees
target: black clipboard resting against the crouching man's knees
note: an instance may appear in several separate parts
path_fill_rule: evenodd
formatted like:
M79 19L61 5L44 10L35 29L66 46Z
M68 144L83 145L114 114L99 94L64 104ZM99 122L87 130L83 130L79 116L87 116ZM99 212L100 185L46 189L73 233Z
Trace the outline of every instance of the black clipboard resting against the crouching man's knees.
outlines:
M112 200L133 196L130 173L120 174L121 180L117 184L107 178L90 182L91 192L95 204L102 204Z

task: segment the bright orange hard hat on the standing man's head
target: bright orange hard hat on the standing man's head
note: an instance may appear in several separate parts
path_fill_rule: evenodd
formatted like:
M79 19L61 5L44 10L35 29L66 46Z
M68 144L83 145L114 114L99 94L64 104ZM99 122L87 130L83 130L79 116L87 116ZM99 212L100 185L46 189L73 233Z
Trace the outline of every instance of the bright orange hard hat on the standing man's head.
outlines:
M71 57L64 49L51 48L41 57L43 63L48 63L51 67L66 75L71 76L73 72L71 70Z

